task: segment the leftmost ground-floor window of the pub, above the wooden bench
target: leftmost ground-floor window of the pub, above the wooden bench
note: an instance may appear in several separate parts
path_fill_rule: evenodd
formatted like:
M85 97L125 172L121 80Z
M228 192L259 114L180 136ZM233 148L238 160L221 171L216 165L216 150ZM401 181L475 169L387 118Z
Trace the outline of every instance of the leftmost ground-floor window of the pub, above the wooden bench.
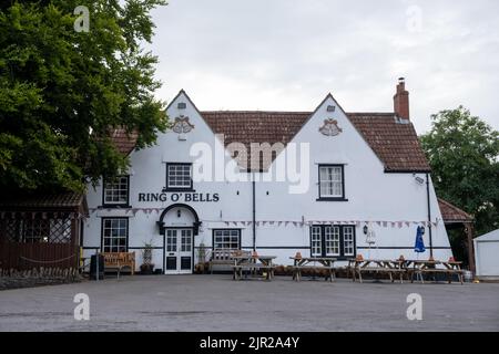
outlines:
M126 252L129 241L128 218L102 219L102 251Z

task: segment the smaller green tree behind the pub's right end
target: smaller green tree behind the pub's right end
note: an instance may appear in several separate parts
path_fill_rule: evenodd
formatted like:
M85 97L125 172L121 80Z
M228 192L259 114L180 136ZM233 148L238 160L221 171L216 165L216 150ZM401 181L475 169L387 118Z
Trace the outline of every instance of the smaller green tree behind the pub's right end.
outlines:
M475 216L478 235L499 227L499 132L462 106L431 116L420 137L437 195Z

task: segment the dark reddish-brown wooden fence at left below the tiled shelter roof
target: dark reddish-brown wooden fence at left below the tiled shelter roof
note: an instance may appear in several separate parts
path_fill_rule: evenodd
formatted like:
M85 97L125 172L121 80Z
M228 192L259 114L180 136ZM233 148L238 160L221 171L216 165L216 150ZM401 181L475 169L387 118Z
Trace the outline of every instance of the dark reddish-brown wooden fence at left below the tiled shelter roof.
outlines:
M78 268L79 247L68 243L0 242L0 269Z

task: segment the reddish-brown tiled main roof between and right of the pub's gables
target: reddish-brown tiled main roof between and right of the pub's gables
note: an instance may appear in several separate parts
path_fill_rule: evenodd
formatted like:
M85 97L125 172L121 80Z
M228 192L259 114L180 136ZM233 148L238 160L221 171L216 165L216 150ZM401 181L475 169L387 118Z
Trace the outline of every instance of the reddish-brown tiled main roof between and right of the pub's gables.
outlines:
M225 135L225 145L233 142L245 145L265 142L287 144L312 114L313 112L201 112L215 133ZM384 163L387 171L430 171L410 122L399 123L393 113L347 113L347 116ZM264 160L264 168L269 163Z

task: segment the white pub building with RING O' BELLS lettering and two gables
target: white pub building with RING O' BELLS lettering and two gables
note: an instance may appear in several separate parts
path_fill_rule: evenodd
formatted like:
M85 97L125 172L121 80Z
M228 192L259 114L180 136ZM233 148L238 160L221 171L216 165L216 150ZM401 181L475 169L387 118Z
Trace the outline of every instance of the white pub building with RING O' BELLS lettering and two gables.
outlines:
M193 272L212 249L256 250L276 264L296 252L415 259L422 226L419 257L447 260L404 80L394 106L347 113L328 94L313 112L204 112L181 91L155 146L135 150L133 136L115 132L131 168L89 187L84 254L135 251L139 268L152 243L155 269L167 274Z

